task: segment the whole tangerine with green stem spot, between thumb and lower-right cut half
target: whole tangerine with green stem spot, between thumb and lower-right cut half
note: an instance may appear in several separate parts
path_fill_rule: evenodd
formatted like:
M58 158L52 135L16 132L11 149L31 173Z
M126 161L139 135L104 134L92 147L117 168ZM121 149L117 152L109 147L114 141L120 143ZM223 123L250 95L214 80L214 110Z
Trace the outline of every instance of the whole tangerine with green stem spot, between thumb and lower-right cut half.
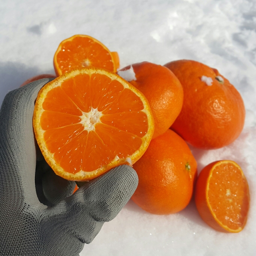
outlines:
M192 197L197 164L186 142L174 131L151 140L134 166L139 178L132 200L153 214L184 209Z

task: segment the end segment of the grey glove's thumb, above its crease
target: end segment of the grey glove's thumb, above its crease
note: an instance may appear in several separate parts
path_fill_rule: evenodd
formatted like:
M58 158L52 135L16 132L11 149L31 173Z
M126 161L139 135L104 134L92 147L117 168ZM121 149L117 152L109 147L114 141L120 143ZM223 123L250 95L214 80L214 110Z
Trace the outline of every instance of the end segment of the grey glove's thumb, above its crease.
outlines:
M72 197L82 202L94 220L108 222L122 210L137 186L136 171L128 165L121 165L86 182Z

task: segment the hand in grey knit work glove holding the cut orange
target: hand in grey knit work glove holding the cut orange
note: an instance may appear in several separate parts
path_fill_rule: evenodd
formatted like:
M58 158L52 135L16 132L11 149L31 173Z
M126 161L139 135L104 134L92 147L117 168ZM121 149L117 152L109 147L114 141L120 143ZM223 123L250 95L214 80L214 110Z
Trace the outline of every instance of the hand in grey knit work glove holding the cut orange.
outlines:
M54 174L38 154L32 116L44 78L9 92L0 109L0 255L77 256L138 185L130 166L86 182Z

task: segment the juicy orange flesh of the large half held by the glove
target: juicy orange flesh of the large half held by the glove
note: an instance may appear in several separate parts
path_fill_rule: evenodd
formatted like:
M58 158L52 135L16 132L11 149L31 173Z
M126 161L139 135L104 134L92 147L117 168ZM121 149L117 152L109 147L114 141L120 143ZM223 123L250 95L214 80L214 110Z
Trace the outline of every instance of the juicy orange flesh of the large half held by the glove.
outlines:
M143 103L130 89L100 74L80 74L48 92L40 125L54 159L65 171L90 172L138 150L148 131ZM83 113L101 113L86 130Z

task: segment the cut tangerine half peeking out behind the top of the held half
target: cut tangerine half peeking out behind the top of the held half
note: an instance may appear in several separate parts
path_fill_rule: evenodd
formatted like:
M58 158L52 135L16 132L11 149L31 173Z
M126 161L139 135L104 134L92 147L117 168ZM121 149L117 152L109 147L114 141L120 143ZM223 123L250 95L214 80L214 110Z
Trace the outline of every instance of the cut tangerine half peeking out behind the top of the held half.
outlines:
M119 67L117 52L110 52L100 41L86 35L74 35L62 41L54 54L57 76L83 67L104 68L116 72Z

